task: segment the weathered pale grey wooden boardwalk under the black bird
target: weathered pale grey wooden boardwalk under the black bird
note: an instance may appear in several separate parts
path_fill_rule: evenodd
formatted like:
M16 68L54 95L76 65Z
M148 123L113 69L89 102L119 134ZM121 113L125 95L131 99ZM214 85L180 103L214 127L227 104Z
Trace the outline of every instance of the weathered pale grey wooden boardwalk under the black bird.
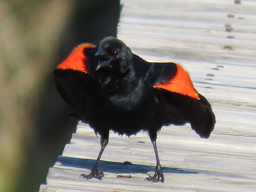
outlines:
M165 182L150 183L144 179L156 160L143 132L110 133L99 163L105 177L79 179L89 174L100 140L78 123L40 192L256 191L256 1L123 0L118 38L148 61L182 63L212 104L215 129L205 140L189 124L163 127L157 146Z

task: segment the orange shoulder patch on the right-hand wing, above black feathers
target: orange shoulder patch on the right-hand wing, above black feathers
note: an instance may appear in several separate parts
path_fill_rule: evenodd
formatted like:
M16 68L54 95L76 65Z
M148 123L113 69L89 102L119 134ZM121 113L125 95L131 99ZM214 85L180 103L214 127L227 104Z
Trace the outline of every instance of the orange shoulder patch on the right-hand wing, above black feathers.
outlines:
M196 92L188 72L180 65L176 64L177 73L167 84L157 84L154 87L165 89L171 92L180 93L189 97L200 100L198 93Z

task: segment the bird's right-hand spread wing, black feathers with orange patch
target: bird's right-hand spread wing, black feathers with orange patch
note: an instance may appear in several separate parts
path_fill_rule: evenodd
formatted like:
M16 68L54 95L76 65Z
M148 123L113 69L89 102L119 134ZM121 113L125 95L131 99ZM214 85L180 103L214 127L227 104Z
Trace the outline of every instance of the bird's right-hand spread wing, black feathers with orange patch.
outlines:
M164 95L167 110L165 124L190 123L200 137L208 138L215 125L210 103L195 90L188 72L180 64L166 65L176 65L176 74L170 73L169 78L154 85Z

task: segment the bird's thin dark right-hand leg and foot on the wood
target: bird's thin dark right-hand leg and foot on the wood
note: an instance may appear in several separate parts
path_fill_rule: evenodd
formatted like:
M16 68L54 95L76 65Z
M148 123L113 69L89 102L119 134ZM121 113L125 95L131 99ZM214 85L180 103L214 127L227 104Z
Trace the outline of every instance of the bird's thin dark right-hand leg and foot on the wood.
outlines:
M150 137L150 140L153 144L153 147L154 147L154 150L155 150L155 155L156 155L155 174L153 175L153 177L151 177L149 175L149 177L146 178L145 180L151 181L152 183L153 182L159 182L159 181L161 181L163 183L164 182L164 174L163 174L162 167L160 165L160 161L159 161L159 158L158 158L158 153L157 153L157 148L156 148L156 136L157 136L156 132L154 132L154 133L149 132L149 137Z

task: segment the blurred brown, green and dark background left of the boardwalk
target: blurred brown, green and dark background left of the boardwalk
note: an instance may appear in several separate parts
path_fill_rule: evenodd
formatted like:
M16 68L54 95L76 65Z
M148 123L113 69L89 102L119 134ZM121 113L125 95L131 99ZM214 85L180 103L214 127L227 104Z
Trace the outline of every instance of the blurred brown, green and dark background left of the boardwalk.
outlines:
M76 130L52 70L116 36L119 0L0 1L0 191L38 191Z

